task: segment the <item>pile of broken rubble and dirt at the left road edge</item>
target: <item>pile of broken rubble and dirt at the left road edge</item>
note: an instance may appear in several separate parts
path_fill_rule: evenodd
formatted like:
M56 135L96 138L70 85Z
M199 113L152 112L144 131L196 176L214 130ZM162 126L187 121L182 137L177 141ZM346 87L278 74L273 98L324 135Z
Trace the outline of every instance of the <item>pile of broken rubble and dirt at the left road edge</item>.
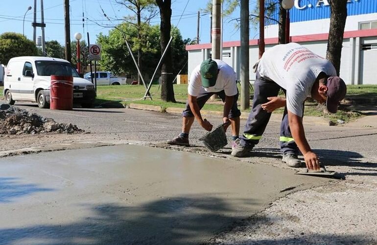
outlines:
M41 133L75 133L84 132L71 123L56 123L35 113L0 104L0 134L41 134Z

